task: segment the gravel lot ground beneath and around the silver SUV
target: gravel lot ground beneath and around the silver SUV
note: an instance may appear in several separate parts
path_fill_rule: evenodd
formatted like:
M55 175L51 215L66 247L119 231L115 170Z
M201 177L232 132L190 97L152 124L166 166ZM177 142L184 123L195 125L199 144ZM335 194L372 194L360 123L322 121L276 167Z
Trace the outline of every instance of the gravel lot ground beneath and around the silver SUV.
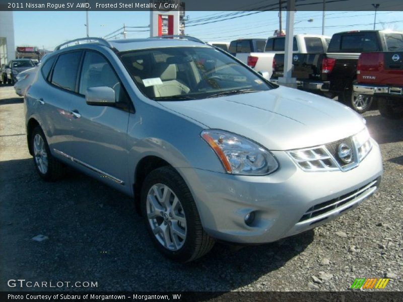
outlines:
M403 120L365 114L385 172L377 193L354 211L280 242L217 244L177 264L153 248L130 198L74 171L57 183L39 179L22 103L12 87L0 87L0 290L40 290L7 286L22 278L95 281L91 289L102 291L340 291L355 278L385 276L384 290L403 290ZM37 235L47 239L32 240Z

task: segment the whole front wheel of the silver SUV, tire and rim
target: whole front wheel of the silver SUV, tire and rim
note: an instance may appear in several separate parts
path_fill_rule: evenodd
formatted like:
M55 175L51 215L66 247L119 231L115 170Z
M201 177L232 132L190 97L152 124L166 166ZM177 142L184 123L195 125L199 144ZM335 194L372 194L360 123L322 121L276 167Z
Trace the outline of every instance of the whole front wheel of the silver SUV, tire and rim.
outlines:
M147 175L141 210L154 245L169 259L189 262L213 248L215 240L204 231L189 188L173 168L158 168Z

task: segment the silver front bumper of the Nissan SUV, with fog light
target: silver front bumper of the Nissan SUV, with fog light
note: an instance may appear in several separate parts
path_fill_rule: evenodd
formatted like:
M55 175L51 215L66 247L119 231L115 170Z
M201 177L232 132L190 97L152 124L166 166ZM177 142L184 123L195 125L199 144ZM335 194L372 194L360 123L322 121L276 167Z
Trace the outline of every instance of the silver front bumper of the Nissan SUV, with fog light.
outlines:
M285 152L273 154L281 167L268 176L179 169L212 237L242 244L267 243L313 229L358 206L377 189L382 175L375 141L360 165L347 172L304 172ZM340 205L328 206L334 202ZM319 205L323 211L306 216ZM247 225L244 218L251 211L255 219Z

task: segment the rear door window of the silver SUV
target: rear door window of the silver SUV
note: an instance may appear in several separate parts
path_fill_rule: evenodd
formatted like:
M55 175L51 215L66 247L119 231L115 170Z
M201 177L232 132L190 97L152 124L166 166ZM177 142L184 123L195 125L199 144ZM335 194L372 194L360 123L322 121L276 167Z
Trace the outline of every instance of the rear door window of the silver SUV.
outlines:
M77 71L81 51L59 55L53 68L52 84L69 91L76 91Z

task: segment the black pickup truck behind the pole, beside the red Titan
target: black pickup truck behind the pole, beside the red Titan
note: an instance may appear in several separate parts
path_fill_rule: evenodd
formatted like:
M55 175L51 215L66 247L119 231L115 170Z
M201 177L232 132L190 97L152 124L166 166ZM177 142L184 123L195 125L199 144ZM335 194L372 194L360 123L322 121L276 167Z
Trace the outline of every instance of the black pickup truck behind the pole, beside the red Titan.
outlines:
M293 55L292 77L298 88L333 98L363 113L372 104L373 97L355 93L357 63L362 52L392 51L392 35L395 32L365 30L334 34L327 53ZM390 45L388 45L390 44ZM272 81L283 76L284 54L274 57Z

